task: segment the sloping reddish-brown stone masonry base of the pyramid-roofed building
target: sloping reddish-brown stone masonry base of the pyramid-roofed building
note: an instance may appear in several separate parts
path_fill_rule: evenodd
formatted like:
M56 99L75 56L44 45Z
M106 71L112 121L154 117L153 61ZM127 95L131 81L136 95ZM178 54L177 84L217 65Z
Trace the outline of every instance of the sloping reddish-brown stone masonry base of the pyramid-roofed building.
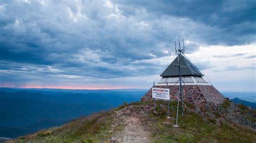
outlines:
M169 88L171 100L177 100L178 85L155 85L152 88ZM152 88L142 97L142 102L151 101ZM198 106L213 106L225 101L224 96L212 85L181 85L181 88L183 89L183 100L187 103Z

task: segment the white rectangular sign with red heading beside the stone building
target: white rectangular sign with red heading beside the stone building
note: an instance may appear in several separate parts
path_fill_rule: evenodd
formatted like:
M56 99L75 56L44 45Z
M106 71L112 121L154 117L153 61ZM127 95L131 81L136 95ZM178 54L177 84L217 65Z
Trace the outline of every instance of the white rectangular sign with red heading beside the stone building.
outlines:
M152 98L165 99L170 101L169 88L152 88Z

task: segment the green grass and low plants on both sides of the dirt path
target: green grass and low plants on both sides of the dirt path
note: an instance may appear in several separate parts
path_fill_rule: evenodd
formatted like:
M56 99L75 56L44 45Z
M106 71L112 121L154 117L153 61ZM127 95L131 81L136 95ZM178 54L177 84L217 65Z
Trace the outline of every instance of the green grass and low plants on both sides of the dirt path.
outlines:
M145 108L145 107L150 108ZM231 103L225 101L224 108L229 108ZM111 126L116 118L116 111L129 110L134 113L145 112L146 119L142 124L151 133L152 142L255 142L256 132L250 127L234 124L224 119L223 115L204 112L203 117L195 110L192 104L187 104L184 116L179 110L178 125L176 124L177 102L170 103L170 118L167 102L157 101L156 112L153 112L153 102L124 103L117 109L109 112L100 112L90 117L72 120L70 123L50 130L39 131L34 134L18 138L17 142L105 142L109 141L113 133L123 130L117 125L112 131ZM246 106L238 105L242 111L248 111ZM149 109L149 110L145 110ZM255 112L253 110L253 112ZM255 120L255 119L254 119Z

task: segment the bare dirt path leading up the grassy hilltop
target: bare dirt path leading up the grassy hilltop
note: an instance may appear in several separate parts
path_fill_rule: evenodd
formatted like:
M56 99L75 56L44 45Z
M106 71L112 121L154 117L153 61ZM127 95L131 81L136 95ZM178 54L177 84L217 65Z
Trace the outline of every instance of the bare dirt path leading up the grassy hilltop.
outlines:
M124 114L122 116L125 127L122 131L112 135L111 142L150 142L150 133L140 125L139 118Z

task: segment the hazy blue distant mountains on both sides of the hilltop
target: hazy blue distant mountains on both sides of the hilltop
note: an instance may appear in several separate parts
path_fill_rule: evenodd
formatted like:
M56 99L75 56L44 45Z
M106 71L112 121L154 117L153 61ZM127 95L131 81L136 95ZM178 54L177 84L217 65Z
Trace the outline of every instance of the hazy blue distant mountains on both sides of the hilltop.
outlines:
M70 90L0 88L0 137L16 138L42 128L59 126L93 112L116 108L124 102L140 100L147 90ZM253 93L223 92L234 103L255 109ZM237 95L237 96L235 96ZM242 99L233 97L244 97ZM253 101L253 100L252 100Z

